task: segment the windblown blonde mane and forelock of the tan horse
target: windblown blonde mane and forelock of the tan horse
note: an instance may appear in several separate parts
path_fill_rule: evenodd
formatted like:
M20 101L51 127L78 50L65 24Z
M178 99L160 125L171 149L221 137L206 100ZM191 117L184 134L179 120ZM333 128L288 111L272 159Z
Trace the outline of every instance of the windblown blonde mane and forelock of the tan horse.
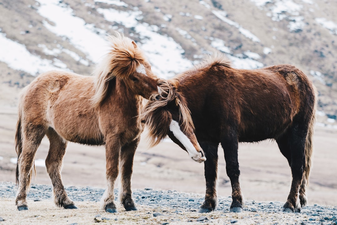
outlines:
M143 52L134 41L116 32L116 36L108 36L110 51L96 66L95 94L92 98L94 106L98 106L106 97L109 83L114 78L126 79L135 73L138 65L146 61Z

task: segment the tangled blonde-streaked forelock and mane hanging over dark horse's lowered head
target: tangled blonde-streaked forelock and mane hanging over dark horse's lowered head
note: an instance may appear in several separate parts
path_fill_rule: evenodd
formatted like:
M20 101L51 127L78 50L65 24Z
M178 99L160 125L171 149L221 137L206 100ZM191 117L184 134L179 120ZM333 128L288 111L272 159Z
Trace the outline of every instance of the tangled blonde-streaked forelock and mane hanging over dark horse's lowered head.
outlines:
M166 80L158 81L160 94L155 94L151 97L150 101L146 104L141 114L142 119L145 121L149 129L149 142L151 146L155 146L160 143L166 137L169 126L172 120L172 115L165 107L169 102L173 102L179 108L179 114L181 121L181 129L186 132L189 126L194 129L191 113L187 108L187 102L185 98L176 90L176 88L168 83ZM160 126L158 126L158 120L160 120Z

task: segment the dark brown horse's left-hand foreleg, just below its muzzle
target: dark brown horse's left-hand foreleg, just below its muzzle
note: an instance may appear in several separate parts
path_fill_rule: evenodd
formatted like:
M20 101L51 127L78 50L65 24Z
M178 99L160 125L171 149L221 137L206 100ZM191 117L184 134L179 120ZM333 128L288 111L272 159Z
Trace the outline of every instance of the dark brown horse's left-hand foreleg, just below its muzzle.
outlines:
M209 142L200 142L201 148L205 152L205 179L206 179L206 195L205 201L201 205L200 213L209 213L215 209L218 198L217 190L217 171L218 171L218 145Z

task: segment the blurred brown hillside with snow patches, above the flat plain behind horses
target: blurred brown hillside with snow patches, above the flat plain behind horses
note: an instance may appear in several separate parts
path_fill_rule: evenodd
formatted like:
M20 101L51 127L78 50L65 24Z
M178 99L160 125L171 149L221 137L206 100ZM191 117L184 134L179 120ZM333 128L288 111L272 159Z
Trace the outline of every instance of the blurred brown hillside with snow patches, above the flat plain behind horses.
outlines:
M221 51L237 68L293 64L319 92L318 121L336 128L337 1L333 0L1 0L0 98L39 73L90 75L122 32L153 71L172 77Z

